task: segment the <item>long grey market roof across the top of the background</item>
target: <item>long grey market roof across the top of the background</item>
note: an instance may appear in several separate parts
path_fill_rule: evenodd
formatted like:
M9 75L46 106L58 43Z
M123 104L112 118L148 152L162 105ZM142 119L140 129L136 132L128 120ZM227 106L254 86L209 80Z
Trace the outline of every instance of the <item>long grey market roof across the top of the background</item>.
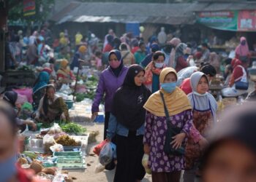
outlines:
M117 3L65 1L56 6L50 18L58 24L65 22L163 23L170 25L195 23L194 12L255 9L255 3ZM254 4L252 6L252 4ZM63 7L63 8L61 8Z

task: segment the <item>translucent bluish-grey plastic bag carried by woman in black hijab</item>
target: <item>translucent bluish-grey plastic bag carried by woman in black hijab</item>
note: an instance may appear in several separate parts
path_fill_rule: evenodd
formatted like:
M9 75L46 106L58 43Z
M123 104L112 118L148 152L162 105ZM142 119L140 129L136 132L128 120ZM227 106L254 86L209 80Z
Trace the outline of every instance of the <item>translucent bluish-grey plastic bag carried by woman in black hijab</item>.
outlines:
M99 153L99 163L108 165L113 159L113 149L110 143L106 143Z

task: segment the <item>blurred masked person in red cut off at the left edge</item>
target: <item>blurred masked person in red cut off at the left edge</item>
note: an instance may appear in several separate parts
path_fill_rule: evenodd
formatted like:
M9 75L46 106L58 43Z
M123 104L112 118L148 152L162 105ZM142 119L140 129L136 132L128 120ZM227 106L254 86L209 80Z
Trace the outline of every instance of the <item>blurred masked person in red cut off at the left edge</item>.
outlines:
M15 111L5 101L0 100L0 181L1 182L39 182L27 170L16 165L17 125Z

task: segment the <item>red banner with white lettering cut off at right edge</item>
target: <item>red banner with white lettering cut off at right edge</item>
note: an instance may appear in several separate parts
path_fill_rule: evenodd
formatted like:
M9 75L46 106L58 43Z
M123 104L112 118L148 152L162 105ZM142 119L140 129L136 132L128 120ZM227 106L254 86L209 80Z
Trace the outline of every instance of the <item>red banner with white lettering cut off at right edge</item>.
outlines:
M239 12L238 31L256 31L256 10L242 10Z

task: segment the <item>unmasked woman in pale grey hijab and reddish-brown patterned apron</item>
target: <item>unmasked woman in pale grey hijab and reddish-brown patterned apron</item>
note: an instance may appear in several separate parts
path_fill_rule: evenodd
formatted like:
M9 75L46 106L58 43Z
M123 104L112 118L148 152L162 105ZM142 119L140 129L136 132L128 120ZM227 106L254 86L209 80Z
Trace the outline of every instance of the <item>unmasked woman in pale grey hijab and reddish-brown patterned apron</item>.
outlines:
M193 124L199 134L203 138L206 138L206 133L213 127L216 121L217 102L214 96L208 93L208 79L206 74L200 71L195 72L190 77L190 84L192 93L188 95L188 98L192 105ZM186 146L184 182L195 179L195 173L198 167L197 163L203 153L202 148L203 146L200 145L199 141L190 135Z

